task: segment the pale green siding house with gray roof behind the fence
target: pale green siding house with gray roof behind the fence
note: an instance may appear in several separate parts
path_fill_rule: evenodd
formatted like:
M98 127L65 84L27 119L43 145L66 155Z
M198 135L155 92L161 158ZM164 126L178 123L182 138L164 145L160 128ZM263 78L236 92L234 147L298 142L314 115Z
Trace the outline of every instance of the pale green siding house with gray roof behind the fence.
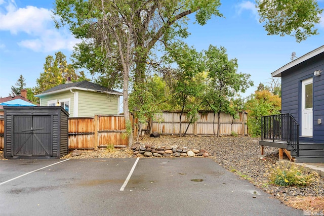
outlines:
M62 106L70 117L119 114L119 97L123 95L89 82L71 82L57 85L41 94L39 106Z

